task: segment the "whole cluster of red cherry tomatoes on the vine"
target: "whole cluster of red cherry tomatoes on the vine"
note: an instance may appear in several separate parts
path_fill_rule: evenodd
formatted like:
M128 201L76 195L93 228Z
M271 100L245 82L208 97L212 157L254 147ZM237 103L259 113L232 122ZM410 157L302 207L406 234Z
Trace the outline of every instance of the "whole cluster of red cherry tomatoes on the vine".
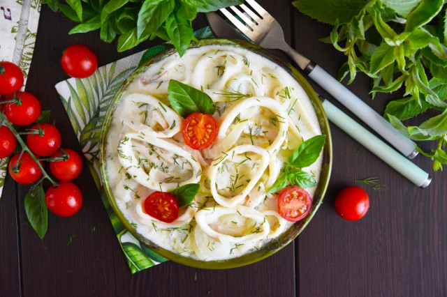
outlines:
M71 180L80 174L82 158L75 151L60 147L61 133L54 125L36 122L41 115L41 103L33 94L20 91L23 82L24 77L18 66L1 62L0 112L3 112L3 123L0 126L0 158L12 155L17 142L20 142L22 148L17 149L18 153L10 158L8 171L21 184L38 183L43 175L52 181L43 172L43 161L49 162L50 172L59 181L45 192L45 204L56 215L74 215L82 206L82 193ZM31 125L31 128L18 133L13 125ZM21 134L25 134L26 139L20 138Z

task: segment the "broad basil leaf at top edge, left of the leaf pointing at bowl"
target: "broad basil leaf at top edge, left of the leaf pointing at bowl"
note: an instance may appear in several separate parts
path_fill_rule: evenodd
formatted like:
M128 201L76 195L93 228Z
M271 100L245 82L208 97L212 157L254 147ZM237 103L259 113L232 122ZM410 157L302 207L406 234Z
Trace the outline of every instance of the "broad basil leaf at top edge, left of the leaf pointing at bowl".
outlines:
M174 6L174 0L145 0L138 13L137 38L149 36L150 33L159 29L173 12Z

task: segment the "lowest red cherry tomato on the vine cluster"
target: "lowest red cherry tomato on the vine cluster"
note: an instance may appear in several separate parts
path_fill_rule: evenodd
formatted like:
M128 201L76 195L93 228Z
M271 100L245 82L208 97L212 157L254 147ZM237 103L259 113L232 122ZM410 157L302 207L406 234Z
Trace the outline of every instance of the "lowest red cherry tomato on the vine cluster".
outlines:
M61 217L69 217L77 213L82 206L82 192L71 181L60 181L45 192L45 204L48 210Z

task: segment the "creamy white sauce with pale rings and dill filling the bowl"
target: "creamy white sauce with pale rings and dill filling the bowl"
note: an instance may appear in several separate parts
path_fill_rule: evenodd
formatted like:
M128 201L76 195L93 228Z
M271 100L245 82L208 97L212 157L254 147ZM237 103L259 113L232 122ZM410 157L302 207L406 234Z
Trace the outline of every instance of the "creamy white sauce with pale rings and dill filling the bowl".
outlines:
M184 144L170 79L203 90L217 106L210 148ZM136 231L161 248L203 261L240 257L292 226L277 212L277 194L265 192L295 148L320 134L309 97L283 68L242 48L198 47L154 63L129 84L108 132L110 188ZM317 183L321 162L320 155L303 168ZM143 211L152 192L187 183L200 190L174 222Z

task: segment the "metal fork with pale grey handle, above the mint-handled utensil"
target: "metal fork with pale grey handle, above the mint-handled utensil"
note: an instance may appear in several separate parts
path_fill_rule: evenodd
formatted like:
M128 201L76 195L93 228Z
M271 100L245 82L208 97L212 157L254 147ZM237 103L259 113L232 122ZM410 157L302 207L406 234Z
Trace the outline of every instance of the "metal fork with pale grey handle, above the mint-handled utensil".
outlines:
M376 131L381 137L386 139L398 151L400 151L406 158L414 158L418 152L414 144L409 138L404 137L399 131L393 128L386 119L374 111L369 105L360 100L354 93L346 89L346 87L337 81L334 77L328 74L323 68L316 65L316 63L307 59L302 54L296 52L284 40L284 32L277 20L270 15L264 8L262 8L254 0L246 0L246 2L253 8L251 10L245 4L240 6L230 6L230 10L240 18L240 20L230 13L226 8L221 8L221 13L225 15L228 20L236 26L245 36L251 39L254 43L261 45L268 49L279 49L295 61L297 65L314 80L318 85L323 87L325 91L330 93L334 98L341 102L353 114L356 114L359 119L364 121L370 128Z

